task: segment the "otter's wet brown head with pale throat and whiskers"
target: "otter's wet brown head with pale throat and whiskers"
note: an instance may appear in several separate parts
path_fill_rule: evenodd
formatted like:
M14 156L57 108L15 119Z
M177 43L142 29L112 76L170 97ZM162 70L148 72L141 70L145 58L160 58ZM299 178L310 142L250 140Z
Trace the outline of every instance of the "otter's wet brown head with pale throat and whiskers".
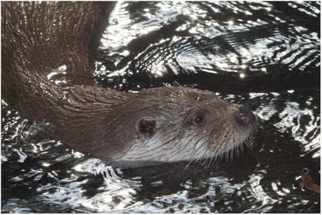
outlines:
M216 158L244 142L256 119L246 105L231 104L211 91L188 87L147 89L130 99L124 161L192 161ZM127 102L127 105L130 105Z

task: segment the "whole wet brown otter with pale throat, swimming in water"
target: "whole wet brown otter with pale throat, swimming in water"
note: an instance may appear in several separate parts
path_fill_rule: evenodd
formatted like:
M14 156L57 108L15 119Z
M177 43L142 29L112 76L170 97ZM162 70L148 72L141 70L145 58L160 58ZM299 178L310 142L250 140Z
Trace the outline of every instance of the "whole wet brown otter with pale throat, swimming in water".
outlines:
M92 80L111 2L1 2L3 99L73 149L115 161L216 158L253 133L255 115L214 92L173 86L127 93ZM66 67L68 83L48 73Z

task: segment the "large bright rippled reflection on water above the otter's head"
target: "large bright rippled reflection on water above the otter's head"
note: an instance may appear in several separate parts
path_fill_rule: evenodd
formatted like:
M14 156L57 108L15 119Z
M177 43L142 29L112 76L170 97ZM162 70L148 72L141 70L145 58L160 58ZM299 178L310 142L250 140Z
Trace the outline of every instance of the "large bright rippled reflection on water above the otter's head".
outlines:
M316 8L288 6L320 15L318 2ZM318 73L319 34L277 9L266 2L120 3L100 47L110 65L97 61L97 75L202 71L253 77L273 74L277 65L288 68L281 73Z

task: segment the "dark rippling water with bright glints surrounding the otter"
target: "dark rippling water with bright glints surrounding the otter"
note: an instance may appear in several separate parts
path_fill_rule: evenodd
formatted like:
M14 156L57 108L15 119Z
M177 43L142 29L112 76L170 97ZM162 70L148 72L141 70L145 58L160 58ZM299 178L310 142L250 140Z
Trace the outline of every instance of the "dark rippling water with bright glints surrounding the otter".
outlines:
M112 168L49 140L2 102L1 212L320 212L320 8L315 2L123 2L95 76L122 91L180 84L244 103L258 134L233 161Z

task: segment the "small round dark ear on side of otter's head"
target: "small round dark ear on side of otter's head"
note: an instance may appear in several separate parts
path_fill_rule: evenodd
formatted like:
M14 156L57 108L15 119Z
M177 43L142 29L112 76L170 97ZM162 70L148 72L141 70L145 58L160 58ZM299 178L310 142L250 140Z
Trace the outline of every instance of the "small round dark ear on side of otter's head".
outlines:
M155 133L157 121L151 117L142 117L137 121L137 133L140 138L150 138Z

